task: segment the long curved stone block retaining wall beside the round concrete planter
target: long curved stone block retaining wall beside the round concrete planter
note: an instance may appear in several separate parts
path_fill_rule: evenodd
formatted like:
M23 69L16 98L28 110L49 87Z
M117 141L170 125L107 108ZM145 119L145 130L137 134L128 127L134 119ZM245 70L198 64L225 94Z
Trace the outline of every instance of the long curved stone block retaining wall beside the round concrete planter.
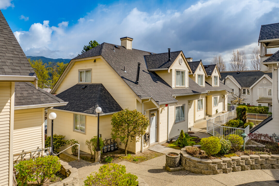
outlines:
M251 169L279 169L278 154L243 155L207 160L192 157L184 149L180 151L180 164L185 170L196 174L212 175Z

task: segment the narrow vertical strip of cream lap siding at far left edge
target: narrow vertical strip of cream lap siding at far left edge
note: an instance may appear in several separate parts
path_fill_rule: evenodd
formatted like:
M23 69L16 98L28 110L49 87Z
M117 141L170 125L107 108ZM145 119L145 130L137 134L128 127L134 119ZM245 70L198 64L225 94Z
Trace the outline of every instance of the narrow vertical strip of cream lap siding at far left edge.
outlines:
M0 186L9 181L11 82L0 82Z

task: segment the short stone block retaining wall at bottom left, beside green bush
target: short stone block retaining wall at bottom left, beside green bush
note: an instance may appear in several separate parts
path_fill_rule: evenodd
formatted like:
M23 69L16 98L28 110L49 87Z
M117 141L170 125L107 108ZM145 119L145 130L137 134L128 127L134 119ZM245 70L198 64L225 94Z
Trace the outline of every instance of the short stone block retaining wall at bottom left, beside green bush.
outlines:
M59 160L61 164L60 173L64 176L67 176L64 180L61 180L59 182L52 183L50 186L78 186L79 180L78 180L78 169L72 168L71 165L69 165L67 162Z

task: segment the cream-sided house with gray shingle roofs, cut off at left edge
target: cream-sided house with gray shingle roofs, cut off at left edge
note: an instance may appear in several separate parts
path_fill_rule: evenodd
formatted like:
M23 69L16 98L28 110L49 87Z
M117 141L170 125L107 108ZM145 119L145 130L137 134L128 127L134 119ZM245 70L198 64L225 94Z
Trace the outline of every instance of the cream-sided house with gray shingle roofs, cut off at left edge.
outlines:
M13 164L21 159L15 154L44 148L45 108L67 103L37 88L36 74L1 11L0 40L0 186L6 186L13 185Z

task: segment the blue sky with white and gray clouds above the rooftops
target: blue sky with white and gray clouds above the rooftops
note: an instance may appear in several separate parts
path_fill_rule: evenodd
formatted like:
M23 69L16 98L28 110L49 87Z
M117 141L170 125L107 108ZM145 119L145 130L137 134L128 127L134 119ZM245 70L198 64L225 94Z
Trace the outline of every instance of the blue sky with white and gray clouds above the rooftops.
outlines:
M47 3L45 3L47 2ZM73 58L90 40L155 53L183 50L209 63L244 49L249 61L260 26L279 22L279 1L23 1L1 0L0 9L26 55Z

